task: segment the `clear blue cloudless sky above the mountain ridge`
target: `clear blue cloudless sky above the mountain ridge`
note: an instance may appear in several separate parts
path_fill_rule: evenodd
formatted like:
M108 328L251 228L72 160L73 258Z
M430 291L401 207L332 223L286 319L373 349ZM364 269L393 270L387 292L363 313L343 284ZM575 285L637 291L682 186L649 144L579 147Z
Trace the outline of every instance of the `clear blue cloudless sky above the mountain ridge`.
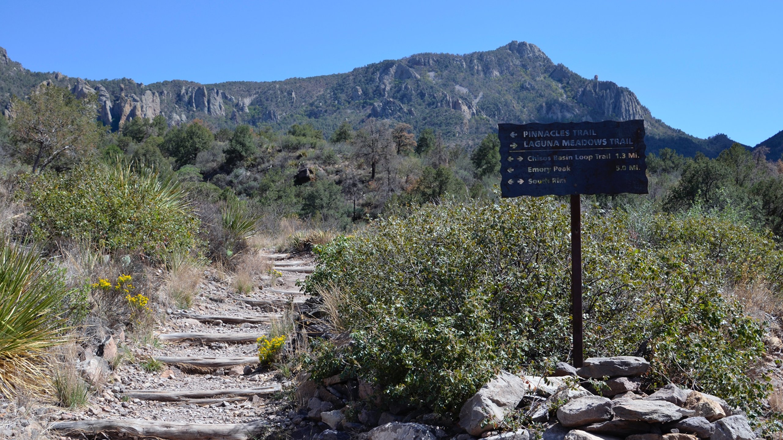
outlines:
M346 72L509 41L636 92L653 116L751 146L783 130L783 2L20 2L0 46L31 70L202 83Z

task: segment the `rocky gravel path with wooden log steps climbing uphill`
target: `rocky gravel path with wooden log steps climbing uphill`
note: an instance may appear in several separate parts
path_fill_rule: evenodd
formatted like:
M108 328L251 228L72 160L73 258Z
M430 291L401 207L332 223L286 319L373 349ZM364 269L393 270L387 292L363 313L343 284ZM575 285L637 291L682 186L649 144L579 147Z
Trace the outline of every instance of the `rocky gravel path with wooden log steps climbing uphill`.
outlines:
M296 282L312 272L312 261L265 258L283 274L274 287L257 283L240 294L228 280L207 276L193 308L168 311L154 343L132 349L135 360L114 370L103 395L80 411L52 414L52 437L244 439L290 427L297 414L282 398L291 384L258 366L255 341L304 303ZM150 359L164 362L163 370L144 370Z

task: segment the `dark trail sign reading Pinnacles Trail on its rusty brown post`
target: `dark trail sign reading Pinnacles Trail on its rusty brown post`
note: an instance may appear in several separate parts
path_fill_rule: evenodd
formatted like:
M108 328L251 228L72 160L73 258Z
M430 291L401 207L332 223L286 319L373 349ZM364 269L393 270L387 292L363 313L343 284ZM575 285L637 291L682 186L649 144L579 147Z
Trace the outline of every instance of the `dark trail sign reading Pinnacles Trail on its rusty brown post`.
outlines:
M503 197L571 196L574 366L583 362L581 194L648 193L644 121L498 124Z

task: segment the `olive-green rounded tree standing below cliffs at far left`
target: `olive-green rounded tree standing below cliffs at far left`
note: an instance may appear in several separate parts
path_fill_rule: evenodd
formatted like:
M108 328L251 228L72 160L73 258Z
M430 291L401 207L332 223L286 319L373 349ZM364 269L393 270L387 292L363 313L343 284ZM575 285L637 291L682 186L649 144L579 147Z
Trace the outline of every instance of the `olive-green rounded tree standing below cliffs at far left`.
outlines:
M88 155L99 138L96 98L76 99L67 88L42 85L25 102L11 100L16 117L11 124L16 153L33 172L57 161L70 164Z

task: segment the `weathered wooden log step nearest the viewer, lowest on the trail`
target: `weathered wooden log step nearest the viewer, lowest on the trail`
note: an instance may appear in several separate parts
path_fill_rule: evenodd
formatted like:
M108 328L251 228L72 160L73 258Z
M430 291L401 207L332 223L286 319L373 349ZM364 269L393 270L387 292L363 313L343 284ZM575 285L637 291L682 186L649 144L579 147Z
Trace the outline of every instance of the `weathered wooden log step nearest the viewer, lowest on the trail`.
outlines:
M63 435L103 435L108 438L161 438L163 440L246 440L257 435L266 424L262 420L247 424L193 424L162 420L78 420L49 425ZM105 438L105 437L103 437Z

